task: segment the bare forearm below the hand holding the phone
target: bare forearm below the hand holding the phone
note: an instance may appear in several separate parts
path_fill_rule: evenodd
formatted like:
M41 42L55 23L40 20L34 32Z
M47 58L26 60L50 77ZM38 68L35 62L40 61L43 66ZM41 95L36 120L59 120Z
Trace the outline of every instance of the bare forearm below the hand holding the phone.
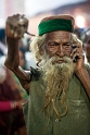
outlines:
M85 69L79 70L77 72L77 76L80 79L82 86L85 87L88 97L90 98L90 76L88 72Z

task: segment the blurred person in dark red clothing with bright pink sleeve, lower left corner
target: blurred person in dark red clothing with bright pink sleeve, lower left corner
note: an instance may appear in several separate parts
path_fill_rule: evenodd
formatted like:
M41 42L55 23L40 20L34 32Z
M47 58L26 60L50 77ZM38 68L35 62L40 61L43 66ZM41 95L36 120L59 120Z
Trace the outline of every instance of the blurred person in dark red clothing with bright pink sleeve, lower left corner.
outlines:
M20 87L13 73L0 68L0 135L26 135Z

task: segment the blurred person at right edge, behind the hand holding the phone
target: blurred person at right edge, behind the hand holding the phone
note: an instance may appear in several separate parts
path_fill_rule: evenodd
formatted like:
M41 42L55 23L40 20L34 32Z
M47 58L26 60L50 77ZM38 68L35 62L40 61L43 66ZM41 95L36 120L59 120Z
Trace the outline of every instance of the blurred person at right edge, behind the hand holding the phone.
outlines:
M83 42L83 49L86 51L87 60L90 63L90 28L86 29L81 34L81 40Z

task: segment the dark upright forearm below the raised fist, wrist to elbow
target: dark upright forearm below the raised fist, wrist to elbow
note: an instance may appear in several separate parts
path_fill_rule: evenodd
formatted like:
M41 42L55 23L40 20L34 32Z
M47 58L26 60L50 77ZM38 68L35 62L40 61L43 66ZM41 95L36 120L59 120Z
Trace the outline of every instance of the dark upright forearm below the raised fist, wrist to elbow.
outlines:
M20 57L18 57L18 39L7 37L8 42L8 57L4 62L5 66L13 70L18 68Z

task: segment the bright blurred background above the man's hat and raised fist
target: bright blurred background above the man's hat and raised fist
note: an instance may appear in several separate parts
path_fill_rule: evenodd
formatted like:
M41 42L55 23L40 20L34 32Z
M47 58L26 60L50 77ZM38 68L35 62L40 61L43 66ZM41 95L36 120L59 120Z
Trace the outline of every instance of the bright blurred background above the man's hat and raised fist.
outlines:
M69 13L76 27L90 26L90 0L0 0L0 27L9 15L21 13L29 20L28 30L37 34L37 25L44 15Z

